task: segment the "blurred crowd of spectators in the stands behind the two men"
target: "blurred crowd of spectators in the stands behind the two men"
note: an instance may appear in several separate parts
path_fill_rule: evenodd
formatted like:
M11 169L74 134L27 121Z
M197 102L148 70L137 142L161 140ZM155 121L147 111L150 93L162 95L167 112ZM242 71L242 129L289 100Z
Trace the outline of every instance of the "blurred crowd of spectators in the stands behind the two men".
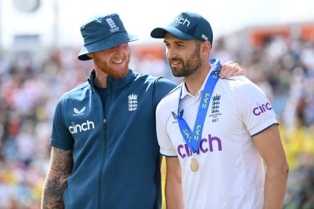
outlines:
M138 56L136 47L132 70L181 81L165 59ZM0 209L40 208L55 104L93 69L78 51L0 51ZM236 61L266 93L290 165L284 208L314 209L314 40L270 37L244 51L228 48L225 37L214 41L211 57Z

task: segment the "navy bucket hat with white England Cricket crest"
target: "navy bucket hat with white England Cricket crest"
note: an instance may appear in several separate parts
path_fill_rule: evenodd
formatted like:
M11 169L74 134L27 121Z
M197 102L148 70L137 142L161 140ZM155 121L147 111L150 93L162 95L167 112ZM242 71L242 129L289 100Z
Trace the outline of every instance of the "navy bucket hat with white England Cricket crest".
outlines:
M91 18L80 27L80 33L84 38L84 45L78 54L79 60L90 60L87 53L102 51L138 39L126 31L116 13Z

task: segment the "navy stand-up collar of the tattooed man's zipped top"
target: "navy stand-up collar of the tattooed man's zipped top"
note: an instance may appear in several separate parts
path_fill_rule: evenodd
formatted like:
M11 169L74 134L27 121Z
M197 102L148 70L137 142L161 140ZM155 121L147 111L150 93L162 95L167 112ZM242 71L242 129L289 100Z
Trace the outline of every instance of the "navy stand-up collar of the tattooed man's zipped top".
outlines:
M95 88L95 82L94 79L96 77L96 71L95 69L91 70L89 73L89 76L87 77L87 81L92 87L92 89ZM135 75L133 70L129 69L129 72L126 76L123 78L112 78L110 76L107 76L107 88L112 88L112 90L122 89L125 86L127 86L129 83L131 83L132 80L134 80Z

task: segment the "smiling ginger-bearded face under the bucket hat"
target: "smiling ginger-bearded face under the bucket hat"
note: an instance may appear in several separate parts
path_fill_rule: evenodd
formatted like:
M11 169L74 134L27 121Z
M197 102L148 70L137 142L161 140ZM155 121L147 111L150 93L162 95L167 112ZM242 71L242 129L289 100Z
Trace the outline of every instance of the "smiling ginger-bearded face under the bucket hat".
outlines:
M131 51L128 43L93 52L88 56L93 59L96 70L102 70L110 77L123 78L129 72Z

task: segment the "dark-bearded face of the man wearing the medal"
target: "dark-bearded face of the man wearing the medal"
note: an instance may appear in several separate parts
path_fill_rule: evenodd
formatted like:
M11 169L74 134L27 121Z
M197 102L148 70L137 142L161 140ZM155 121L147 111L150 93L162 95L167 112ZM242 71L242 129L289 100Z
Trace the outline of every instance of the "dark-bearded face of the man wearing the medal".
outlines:
M201 41L182 40L166 33L164 43L166 45L166 57L174 76L188 76L201 67Z

